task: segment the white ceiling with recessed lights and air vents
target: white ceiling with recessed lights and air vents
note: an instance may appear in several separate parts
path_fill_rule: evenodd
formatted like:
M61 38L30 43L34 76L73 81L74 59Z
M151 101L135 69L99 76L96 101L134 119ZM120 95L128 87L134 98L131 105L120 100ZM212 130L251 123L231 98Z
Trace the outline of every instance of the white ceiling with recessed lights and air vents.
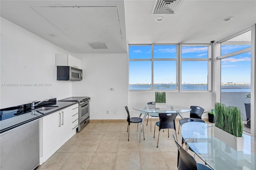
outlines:
M184 0L175 14L152 14L155 2L1 0L0 12L70 53L126 53L127 43L210 43L256 24L256 0ZM108 49L88 44L101 42Z

